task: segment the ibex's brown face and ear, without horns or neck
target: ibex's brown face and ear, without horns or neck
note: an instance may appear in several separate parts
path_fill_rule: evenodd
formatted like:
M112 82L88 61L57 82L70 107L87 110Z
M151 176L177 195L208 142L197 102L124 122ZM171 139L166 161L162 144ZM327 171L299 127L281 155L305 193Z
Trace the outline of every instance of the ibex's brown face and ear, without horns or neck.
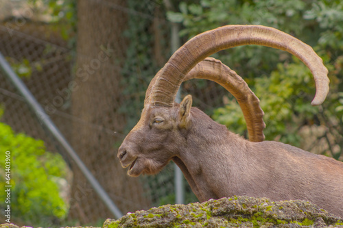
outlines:
M130 131L118 153L122 166L130 166L128 175L158 173L178 154L180 145L185 142L182 129L187 129L189 124L190 106L189 96L180 106L144 107L141 120Z

